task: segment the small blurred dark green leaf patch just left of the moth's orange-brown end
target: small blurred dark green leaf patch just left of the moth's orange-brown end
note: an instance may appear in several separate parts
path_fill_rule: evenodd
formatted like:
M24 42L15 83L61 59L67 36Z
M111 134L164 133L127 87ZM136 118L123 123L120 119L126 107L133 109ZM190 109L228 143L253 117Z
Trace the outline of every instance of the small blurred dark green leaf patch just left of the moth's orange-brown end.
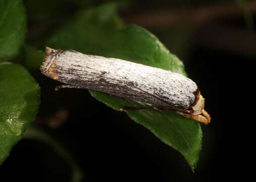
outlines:
M36 50L29 45L25 47L24 66L30 71L39 71L43 58L44 52L42 50Z

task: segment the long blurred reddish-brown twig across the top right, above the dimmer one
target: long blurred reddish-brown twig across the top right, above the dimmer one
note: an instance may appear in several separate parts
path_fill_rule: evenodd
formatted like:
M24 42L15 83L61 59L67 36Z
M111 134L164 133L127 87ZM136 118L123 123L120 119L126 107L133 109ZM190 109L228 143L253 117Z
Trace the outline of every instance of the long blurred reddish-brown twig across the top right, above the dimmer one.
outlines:
M247 11L256 12L256 1L247 2ZM237 4L222 4L147 12L124 16L124 20L126 23L133 23L146 28L159 28L170 25L200 25L215 18L241 15L243 12L243 8Z

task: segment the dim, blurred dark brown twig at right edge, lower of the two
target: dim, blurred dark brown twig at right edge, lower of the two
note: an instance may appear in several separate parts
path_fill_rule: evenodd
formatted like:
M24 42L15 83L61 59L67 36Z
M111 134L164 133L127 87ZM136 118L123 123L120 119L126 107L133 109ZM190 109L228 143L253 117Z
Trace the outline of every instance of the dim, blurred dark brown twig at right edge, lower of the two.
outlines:
M196 35L199 45L246 57L256 56L256 33L219 24L206 24Z

